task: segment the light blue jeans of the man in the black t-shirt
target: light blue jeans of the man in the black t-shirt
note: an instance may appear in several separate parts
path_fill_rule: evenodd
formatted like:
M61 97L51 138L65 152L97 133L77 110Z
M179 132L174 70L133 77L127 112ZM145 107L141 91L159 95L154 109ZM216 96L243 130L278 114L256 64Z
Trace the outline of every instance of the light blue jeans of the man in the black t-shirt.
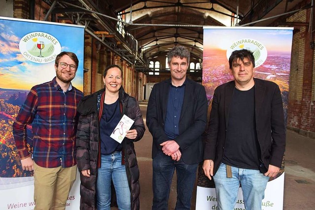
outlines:
M232 178L226 177L226 165L221 163L213 177L216 184L218 207L220 210L233 210L239 186L243 190L246 210L261 210L261 201L265 196L265 189L269 177L264 176L259 170L242 169L233 167Z

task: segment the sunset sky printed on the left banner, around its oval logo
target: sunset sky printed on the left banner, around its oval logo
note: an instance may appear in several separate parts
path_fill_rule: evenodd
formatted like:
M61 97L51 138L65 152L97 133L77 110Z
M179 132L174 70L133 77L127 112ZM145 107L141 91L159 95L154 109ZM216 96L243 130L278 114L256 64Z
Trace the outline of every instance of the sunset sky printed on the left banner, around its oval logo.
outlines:
M19 43L23 36L34 31L40 31L57 38L61 45L61 51L71 51L77 55L79 66L72 84L79 90L83 90L84 47L82 40L84 30L69 26L60 24L51 27L50 24L39 22L29 23L0 18L0 88L30 90L32 86L50 81L56 76L55 60L47 63L36 63L27 60L19 49ZM36 44L35 41L36 39L34 39L34 45Z

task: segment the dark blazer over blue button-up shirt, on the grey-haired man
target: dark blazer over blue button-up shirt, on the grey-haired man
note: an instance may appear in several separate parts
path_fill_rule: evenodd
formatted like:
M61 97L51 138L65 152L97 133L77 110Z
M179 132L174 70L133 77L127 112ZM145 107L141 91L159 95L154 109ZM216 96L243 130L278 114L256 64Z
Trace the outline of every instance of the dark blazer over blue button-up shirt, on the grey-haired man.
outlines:
M168 141L164 132L168 93L171 80L155 84L150 94L147 109L147 126L153 136L152 158L161 151L160 144ZM174 139L180 146L183 161L193 164L203 161L201 134L207 124L207 97L205 88L186 79L184 102L179 121L179 136Z

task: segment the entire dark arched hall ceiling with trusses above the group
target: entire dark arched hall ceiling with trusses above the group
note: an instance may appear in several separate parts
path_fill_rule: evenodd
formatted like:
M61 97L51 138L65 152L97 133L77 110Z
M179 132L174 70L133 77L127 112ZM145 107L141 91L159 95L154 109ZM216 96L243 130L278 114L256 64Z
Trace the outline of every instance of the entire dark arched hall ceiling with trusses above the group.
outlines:
M85 25L87 33L142 70L176 44L188 47L192 60L202 60L203 40L211 38L203 37L203 26L294 26L284 14L311 6L303 0L44 1L51 5L47 16Z

